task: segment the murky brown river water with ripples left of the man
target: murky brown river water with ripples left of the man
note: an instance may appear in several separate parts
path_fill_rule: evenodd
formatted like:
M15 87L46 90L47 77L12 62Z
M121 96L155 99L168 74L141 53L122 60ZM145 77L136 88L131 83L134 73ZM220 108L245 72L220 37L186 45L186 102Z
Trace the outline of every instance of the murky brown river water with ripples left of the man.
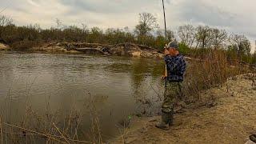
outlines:
M38 114L70 109L82 114L90 131L85 106L94 98L102 138L118 134L122 119L158 111L163 82L161 60L83 54L0 54L0 105L6 122L21 122L28 106ZM88 132L89 133L89 132ZM89 134L90 135L90 134Z

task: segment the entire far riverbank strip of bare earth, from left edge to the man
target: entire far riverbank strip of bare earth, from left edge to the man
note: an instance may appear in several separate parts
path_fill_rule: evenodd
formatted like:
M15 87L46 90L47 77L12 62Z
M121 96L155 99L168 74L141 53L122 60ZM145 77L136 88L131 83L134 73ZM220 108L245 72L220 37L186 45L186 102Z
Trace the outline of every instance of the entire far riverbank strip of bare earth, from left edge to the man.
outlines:
M1 44L2 51L19 51L10 46ZM163 58L163 54L148 46L135 45L132 43L121 43L117 45L85 43L85 42L53 42L44 43L39 46L25 47L22 50L25 52L40 52L48 54L102 54L115 56L131 56L142 58Z

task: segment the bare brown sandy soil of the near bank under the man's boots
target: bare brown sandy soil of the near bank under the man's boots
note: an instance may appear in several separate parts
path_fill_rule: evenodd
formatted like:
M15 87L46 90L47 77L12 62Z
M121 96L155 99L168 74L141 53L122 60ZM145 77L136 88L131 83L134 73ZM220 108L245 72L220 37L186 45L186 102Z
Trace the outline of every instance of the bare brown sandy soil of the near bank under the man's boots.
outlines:
M160 117L134 118L110 143L245 143L256 132L256 74L243 74L203 91L201 104L184 106L170 130Z

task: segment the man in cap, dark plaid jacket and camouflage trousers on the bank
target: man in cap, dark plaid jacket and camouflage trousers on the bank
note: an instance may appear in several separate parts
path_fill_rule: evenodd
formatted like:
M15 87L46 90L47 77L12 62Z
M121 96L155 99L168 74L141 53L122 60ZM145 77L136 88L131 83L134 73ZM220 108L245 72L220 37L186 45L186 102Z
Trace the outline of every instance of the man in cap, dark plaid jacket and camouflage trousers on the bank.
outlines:
M169 130L174 121L174 100L181 94L183 74L186 70L186 62L182 54L178 52L178 43L170 42L164 51L167 74L166 90L162 103L162 122L159 122L156 127Z

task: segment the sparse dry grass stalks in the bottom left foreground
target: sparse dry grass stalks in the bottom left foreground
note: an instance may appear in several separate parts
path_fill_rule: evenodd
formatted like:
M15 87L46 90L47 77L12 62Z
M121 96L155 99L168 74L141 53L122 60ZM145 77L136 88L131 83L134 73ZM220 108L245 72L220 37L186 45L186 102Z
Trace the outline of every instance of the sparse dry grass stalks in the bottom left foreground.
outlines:
M87 98L89 97L89 98ZM2 143L102 143L100 121L94 106L94 98L86 94L85 106L90 111L90 134L82 130L82 110L73 102L70 110L62 118L62 110L50 109L50 96L45 112L33 110L26 102L26 113L20 122L4 121L6 114L2 110L0 117ZM12 105L12 103L9 103ZM89 138L85 140L86 136Z

